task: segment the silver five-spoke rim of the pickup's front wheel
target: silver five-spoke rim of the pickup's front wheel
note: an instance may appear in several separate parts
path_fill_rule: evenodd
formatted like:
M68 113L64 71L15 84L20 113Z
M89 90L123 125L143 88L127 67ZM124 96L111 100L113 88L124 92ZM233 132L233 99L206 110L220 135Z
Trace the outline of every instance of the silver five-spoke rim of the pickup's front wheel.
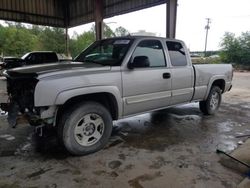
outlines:
M75 125L75 140L81 146L96 144L104 133L104 122L101 116L95 113L84 115Z

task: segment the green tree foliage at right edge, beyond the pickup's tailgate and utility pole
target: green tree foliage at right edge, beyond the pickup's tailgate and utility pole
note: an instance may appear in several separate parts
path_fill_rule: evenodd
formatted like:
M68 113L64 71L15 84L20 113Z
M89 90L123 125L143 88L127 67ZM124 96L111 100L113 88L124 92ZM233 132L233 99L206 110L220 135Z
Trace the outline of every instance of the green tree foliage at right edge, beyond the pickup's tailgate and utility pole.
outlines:
M250 32L235 37L233 33L225 33L221 42L222 61L250 66Z

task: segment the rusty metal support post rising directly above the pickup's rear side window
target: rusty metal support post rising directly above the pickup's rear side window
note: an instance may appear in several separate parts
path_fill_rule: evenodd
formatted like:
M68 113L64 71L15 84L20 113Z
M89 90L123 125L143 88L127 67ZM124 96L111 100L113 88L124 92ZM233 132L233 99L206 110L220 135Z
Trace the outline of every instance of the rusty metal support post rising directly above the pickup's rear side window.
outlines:
M166 37L175 38L177 0L167 0Z

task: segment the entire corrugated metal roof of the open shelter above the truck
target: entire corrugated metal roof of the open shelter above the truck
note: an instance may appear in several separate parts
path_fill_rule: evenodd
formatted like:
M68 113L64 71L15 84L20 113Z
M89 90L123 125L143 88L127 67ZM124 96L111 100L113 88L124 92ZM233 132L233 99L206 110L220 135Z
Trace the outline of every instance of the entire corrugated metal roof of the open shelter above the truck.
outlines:
M103 0L103 17L149 8L166 0ZM95 21L94 0L0 0L0 19L55 27Z

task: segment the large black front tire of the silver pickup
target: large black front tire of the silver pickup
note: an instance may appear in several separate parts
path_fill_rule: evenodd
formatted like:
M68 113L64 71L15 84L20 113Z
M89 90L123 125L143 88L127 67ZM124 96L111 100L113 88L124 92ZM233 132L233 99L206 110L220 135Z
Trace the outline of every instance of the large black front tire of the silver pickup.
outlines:
M96 116L97 118L95 117L96 119L92 120L92 116ZM67 110L61 117L58 123L58 136L69 153L73 155L87 155L102 149L107 144L112 132L113 123L109 111L101 104L96 102L83 102ZM85 122L86 117L88 117L89 123L86 123L88 120ZM95 126L95 123L91 123L91 121L94 122L97 119L102 122L98 127ZM98 130L100 126L102 130ZM82 127L84 127L83 130ZM94 128L88 128L87 132L87 127ZM82 134L77 134L76 130L82 130ZM94 133L98 132L99 136L101 135L99 140L92 145L82 145L85 143L83 141L84 138L88 138L86 142L91 138L94 138L94 141L97 140L97 137L91 137L90 132L92 131L94 131ZM88 133L88 135L86 135L86 133Z

